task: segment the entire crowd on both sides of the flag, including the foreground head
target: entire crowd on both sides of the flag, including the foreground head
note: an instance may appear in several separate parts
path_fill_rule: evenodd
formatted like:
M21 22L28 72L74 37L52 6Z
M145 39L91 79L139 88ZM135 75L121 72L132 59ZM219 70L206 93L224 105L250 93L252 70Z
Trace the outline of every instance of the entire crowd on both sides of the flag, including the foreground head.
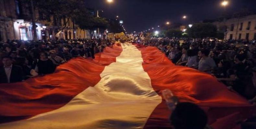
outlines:
M124 42L124 41L121 41ZM198 69L215 76L244 97L256 103L256 45L255 41L154 39L134 41L155 46L174 64ZM30 77L51 74L55 68L72 58L94 58L108 40L13 40L0 43L0 83L24 81ZM166 99L166 98L165 98ZM170 104L168 104L169 106ZM171 104L171 125L176 129L211 129L204 111L192 103ZM189 109L189 110L187 110ZM198 115L201 114L201 115ZM196 119L195 116L198 116ZM246 127L247 128L247 127Z

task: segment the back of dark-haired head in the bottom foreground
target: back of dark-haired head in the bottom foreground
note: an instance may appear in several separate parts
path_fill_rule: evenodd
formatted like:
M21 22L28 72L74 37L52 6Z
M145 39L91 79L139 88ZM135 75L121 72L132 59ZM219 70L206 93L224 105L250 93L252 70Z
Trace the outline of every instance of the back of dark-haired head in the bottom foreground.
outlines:
M207 115L199 106L192 103L179 103L170 116L174 129L204 129Z

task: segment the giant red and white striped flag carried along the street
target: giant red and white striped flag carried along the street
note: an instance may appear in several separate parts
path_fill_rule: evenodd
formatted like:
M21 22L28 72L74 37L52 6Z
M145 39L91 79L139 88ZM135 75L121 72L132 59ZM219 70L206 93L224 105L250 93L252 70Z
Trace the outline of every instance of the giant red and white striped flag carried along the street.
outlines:
M214 129L237 128L253 107L211 75L176 66L156 47L115 44L54 74L0 85L0 129L167 129L161 90L198 104Z

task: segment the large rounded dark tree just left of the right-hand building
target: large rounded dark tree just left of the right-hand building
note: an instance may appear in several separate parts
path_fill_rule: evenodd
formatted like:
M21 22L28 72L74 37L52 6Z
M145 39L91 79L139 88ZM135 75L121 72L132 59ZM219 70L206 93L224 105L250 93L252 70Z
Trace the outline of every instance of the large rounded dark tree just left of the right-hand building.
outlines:
M216 37L217 27L211 23L196 23L188 28L187 33L192 38Z

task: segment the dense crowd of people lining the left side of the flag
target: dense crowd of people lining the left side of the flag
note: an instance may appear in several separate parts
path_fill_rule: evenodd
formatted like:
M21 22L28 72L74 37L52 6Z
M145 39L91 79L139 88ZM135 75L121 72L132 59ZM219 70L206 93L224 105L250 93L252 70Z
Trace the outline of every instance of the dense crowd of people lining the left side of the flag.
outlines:
M74 57L94 58L114 42L107 40L13 40L0 43L0 83L14 83L51 74Z

